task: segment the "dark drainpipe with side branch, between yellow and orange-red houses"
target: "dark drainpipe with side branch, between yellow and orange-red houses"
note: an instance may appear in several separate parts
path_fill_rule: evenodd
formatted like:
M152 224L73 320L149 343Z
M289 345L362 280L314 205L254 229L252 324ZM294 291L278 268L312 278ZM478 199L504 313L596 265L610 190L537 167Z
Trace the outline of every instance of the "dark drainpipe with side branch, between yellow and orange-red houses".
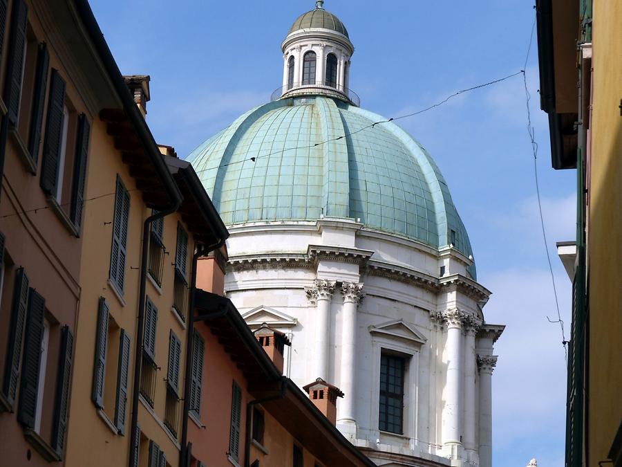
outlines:
M190 412L190 385L191 385L191 372L192 372L192 347L194 346L194 302L196 297L196 269L197 262L200 257L204 257L211 251L216 250L223 246L225 241L218 239L216 244L205 246L202 245L197 248L196 253L192 256L192 271L190 277L190 311L188 313L188 335L186 337L186 367L184 374L184 411L182 415L182 438L181 438L181 450L179 453L179 465L180 467L190 466L190 445L188 444L188 416ZM225 315L227 310L216 311L210 315L200 316L203 320L209 318L217 318L220 315ZM200 319L201 320L201 319Z

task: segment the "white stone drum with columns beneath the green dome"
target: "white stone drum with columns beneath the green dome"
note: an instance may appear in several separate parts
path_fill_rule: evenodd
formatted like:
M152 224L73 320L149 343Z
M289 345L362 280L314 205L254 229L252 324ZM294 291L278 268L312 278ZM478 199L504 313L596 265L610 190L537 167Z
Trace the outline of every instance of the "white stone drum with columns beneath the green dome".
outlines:
M249 325L288 335L285 374L345 394L337 426L379 465L491 466L489 291L471 259L348 219L229 228L225 289ZM440 276L441 266L444 275ZM382 354L404 361L402 433L379 430Z

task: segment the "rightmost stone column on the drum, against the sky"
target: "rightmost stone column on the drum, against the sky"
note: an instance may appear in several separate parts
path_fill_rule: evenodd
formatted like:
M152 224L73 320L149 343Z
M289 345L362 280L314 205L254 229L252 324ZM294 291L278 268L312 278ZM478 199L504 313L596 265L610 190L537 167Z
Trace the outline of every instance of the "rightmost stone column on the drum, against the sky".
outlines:
M496 356L478 356L480 367L480 467L492 467L492 372L496 364Z

